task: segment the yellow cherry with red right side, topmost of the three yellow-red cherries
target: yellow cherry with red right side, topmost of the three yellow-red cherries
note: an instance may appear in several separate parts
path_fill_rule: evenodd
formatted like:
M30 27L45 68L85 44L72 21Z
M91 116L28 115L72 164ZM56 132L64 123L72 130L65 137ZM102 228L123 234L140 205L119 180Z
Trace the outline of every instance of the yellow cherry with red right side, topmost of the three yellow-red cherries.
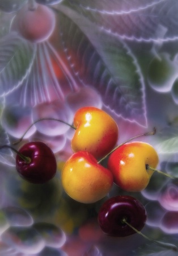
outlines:
M99 159L117 143L117 123L101 109L92 106L80 108L74 116L74 127L77 128L71 139L74 152L86 150Z

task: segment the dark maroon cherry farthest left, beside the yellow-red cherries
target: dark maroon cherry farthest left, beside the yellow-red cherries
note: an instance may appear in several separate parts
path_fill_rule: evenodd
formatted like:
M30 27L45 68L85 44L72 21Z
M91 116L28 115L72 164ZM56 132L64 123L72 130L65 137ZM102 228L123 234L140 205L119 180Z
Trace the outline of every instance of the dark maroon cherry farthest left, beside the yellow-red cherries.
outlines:
M35 141L24 144L19 152L31 159L27 163L16 155L18 174L30 183L45 183L56 175L57 162L53 151L45 143Z

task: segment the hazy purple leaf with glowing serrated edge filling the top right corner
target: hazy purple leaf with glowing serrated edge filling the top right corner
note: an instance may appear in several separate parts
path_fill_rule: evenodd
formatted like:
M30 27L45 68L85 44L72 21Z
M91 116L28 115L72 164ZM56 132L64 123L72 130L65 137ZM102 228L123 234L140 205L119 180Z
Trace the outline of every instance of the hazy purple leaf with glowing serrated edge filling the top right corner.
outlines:
M66 1L108 35L133 42L176 40L177 2L152 1ZM96 15L97 14L97 15ZM166 19L165 19L166 18Z

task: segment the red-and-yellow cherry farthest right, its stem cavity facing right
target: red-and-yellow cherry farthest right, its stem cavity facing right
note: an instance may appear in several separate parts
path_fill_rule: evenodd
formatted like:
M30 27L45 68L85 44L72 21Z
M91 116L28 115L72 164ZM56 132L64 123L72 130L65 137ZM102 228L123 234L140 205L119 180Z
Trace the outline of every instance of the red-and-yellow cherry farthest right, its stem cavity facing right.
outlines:
M147 170L158 165L158 154L149 143L129 142L117 148L108 158L108 169L115 184L128 192L139 192L147 187L154 171Z

